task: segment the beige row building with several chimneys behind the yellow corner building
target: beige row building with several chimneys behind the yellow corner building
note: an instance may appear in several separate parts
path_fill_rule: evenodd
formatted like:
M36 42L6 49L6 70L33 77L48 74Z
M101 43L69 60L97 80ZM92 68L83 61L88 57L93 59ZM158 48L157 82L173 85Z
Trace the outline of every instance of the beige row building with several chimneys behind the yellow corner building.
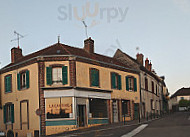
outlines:
M138 53L136 57L134 59L119 49L114 55L114 58L140 71L141 117L145 118L167 112L169 93L164 77L159 77L155 73L148 58L144 64L143 54Z

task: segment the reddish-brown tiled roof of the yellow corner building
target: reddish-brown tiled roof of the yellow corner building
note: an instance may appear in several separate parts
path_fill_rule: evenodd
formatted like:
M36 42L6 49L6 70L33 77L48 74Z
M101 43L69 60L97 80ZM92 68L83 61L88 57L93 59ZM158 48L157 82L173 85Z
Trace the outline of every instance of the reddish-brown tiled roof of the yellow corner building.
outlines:
M96 61L101 61L104 63L110 63L110 64L122 66L122 67L129 68L129 69L134 69L131 66L121 63L120 61L118 61L115 58L100 55L97 53L88 53L82 48L71 47L71 46L68 46L65 44L61 44L61 43L56 43L52 46L49 46L47 48L44 48L44 49L34 52L32 54L23 56L23 58L19 59L17 62L10 63L7 66L5 66L3 69L6 69L7 67L11 67L12 65L21 63L23 61L27 61L34 57L46 56L46 55L74 55L74 56L85 57L85 58L96 60Z

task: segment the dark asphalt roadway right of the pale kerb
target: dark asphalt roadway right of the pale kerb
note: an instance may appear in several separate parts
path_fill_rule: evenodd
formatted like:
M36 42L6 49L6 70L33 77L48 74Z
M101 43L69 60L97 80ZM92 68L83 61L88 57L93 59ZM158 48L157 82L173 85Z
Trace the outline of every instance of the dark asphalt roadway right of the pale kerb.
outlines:
M190 137L190 112L177 112L150 122L134 137Z

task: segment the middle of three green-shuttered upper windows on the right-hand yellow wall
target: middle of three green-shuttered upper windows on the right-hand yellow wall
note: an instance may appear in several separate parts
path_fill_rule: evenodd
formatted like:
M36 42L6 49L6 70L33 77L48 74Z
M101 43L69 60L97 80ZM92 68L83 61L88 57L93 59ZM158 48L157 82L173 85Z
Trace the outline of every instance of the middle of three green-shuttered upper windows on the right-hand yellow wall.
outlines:
M117 73L111 73L111 88L121 90L121 75Z

